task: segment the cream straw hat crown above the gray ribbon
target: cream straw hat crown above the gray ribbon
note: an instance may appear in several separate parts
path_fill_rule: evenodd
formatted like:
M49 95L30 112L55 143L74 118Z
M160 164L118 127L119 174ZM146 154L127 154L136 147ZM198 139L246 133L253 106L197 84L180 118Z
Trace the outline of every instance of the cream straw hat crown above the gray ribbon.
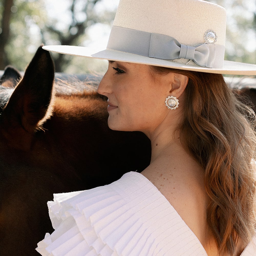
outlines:
M180 44L204 44L213 30L225 46L226 10L204 0L120 0L113 26L168 35Z

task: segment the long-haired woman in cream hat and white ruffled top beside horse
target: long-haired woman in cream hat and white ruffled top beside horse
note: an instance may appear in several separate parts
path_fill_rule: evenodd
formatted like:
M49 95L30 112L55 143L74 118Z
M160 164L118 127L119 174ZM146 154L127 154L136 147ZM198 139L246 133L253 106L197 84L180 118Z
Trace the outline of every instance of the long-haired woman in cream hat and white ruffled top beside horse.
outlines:
M108 125L144 132L152 159L141 174L55 195L56 230L38 252L255 255L255 116L222 74L256 65L223 61L225 30L225 9L206 1L121 0L106 50L45 47L109 60L98 87Z

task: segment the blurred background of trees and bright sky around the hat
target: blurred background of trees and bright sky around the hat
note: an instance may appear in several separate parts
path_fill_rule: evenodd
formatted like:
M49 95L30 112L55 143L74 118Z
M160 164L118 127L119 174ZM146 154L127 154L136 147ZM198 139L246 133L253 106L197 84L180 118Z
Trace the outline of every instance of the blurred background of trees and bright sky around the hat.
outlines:
M225 59L256 63L256 1L211 0L227 10ZM107 44L119 0L1 0L0 70L23 71L45 45ZM52 54L57 72L104 73L106 61Z

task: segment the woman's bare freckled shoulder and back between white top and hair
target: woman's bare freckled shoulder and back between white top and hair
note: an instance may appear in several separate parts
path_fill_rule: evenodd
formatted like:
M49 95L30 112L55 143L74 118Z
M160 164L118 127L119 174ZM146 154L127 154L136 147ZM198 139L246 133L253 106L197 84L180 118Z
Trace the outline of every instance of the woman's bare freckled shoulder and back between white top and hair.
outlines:
M207 249L209 241L211 248L216 244L207 226L207 206L209 197L204 187L203 170L193 161L185 161L185 164L173 165L167 172L158 170L143 174L151 179L153 184L174 207L178 215L193 231L200 243ZM154 170L154 168L153 168ZM212 249L211 249L212 250Z

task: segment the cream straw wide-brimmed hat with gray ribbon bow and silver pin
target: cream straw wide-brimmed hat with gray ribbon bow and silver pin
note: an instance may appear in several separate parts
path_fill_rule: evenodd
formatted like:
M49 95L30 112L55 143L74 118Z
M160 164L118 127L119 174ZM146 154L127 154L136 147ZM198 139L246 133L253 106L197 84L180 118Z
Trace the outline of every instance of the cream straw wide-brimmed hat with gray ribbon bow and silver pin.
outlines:
M44 46L48 51L176 69L256 75L256 65L224 60L226 10L204 0L120 0L108 45Z

